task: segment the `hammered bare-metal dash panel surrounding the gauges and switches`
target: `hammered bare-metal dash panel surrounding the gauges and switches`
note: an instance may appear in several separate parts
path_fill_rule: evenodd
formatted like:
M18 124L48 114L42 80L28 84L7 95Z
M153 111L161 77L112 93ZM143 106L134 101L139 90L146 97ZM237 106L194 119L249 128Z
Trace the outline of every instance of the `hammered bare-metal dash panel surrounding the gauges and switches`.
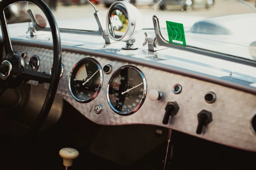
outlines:
M49 74L53 61L52 50L20 45L14 45L13 49L19 53L26 51L30 57L34 54L38 55L41 63L39 71ZM124 65L138 67L145 75L147 91L156 89L162 92L162 99L151 101L146 97L142 107L134 114L130 116L118 115L111 110L106 97L106 88L111 74L104 74L103 85L98 96L90 103L77 102L69 92L68 79L73 66L77 61L85 57L96 59L102 68L106 64L112 65L112 73ZM102 125L153 124L172 128L228 146L256 151L256 136L249 128L250 120L256 113L255 95L140 65L110 61L101 57L67 51L62 52L62 63L64 65L64 74L60 79L57 94L95 123ZM176 83L182 86L180 94L172 92L172 86ZM204 95L209 91L214 92L217 96L216 102L213 104L208 104L204 101ZM176 101L180 109L179 113L171 118L167 125L164 125L162 124L165 113L164 107L170 101ZM94 113L93 108L96 104L103 106L103 112L99 115ZM204 128L203 134L197 135L197 114L202 109L212 112L213 121Z

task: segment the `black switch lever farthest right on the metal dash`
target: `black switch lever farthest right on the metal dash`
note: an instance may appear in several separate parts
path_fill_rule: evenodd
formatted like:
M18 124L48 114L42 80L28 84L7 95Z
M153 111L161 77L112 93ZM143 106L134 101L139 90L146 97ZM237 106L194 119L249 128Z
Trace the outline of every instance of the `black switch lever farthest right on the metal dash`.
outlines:
M196 134L201 134L203 131L203 126L207 126L211 121L213 121L212 112L207 110L202 110L197 114L198 125L196 128Z

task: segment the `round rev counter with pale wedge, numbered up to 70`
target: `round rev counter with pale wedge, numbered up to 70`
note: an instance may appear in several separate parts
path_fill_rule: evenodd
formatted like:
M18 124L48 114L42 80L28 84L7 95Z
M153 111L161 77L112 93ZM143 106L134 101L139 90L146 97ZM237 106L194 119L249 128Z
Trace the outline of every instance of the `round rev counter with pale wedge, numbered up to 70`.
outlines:
M69 90L79 102L92 101L99 93L103 81L100 64L92 58L84 58L75 64L69 76Z

